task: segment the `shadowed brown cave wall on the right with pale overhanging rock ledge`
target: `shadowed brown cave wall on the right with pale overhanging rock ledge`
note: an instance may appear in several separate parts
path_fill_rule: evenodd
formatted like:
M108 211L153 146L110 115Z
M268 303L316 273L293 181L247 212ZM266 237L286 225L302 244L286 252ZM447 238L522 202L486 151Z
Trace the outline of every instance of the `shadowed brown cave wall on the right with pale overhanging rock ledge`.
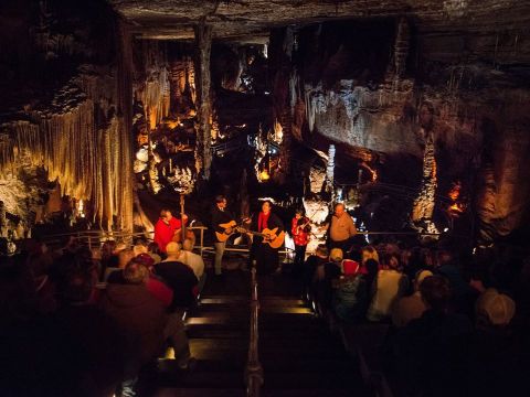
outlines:
M297 29L288 49L284 30L276 50L290 69L276 85L286 98L275 111L290 112L303 144L324 151L338 143L352 159L368 150L405 174L392 159L422 162L432 136L431 195L447 197L462 183L478 237L490 242L529 217L530 32L439 29L406 19L328 22Z

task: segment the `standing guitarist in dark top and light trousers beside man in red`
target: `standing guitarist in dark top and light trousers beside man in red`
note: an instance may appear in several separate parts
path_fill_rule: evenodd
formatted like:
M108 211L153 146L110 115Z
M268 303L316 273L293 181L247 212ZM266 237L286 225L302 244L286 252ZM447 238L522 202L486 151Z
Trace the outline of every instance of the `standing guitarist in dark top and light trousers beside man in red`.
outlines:
M226 247L226 239L233 233L233 227L236 225L234 215L226 210L226 197L223 195L215 196L215 205L212 208L212 228L214 233L215 246L215 276L222 275L222 260L224 248Z

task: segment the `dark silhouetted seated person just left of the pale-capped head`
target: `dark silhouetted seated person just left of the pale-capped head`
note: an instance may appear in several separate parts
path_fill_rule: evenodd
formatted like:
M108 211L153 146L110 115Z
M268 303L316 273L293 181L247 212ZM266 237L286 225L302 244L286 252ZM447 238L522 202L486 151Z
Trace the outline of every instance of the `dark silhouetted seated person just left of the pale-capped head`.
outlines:
M469 395L463 390L471 323L449 312L452 291L444 277L426 277L420 292L427 310L388 339L396 379L409 395Z

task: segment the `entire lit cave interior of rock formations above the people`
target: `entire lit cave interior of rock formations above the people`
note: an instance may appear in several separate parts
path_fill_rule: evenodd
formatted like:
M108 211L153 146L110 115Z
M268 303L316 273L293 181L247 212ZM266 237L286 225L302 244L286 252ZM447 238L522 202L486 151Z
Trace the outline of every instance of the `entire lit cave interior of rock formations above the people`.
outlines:
M151 232L181 194L208 225L220 193L240 217L272 197L317 226L343 202L368 232L528 233L527 2L18 0L0 20L4 238Z

